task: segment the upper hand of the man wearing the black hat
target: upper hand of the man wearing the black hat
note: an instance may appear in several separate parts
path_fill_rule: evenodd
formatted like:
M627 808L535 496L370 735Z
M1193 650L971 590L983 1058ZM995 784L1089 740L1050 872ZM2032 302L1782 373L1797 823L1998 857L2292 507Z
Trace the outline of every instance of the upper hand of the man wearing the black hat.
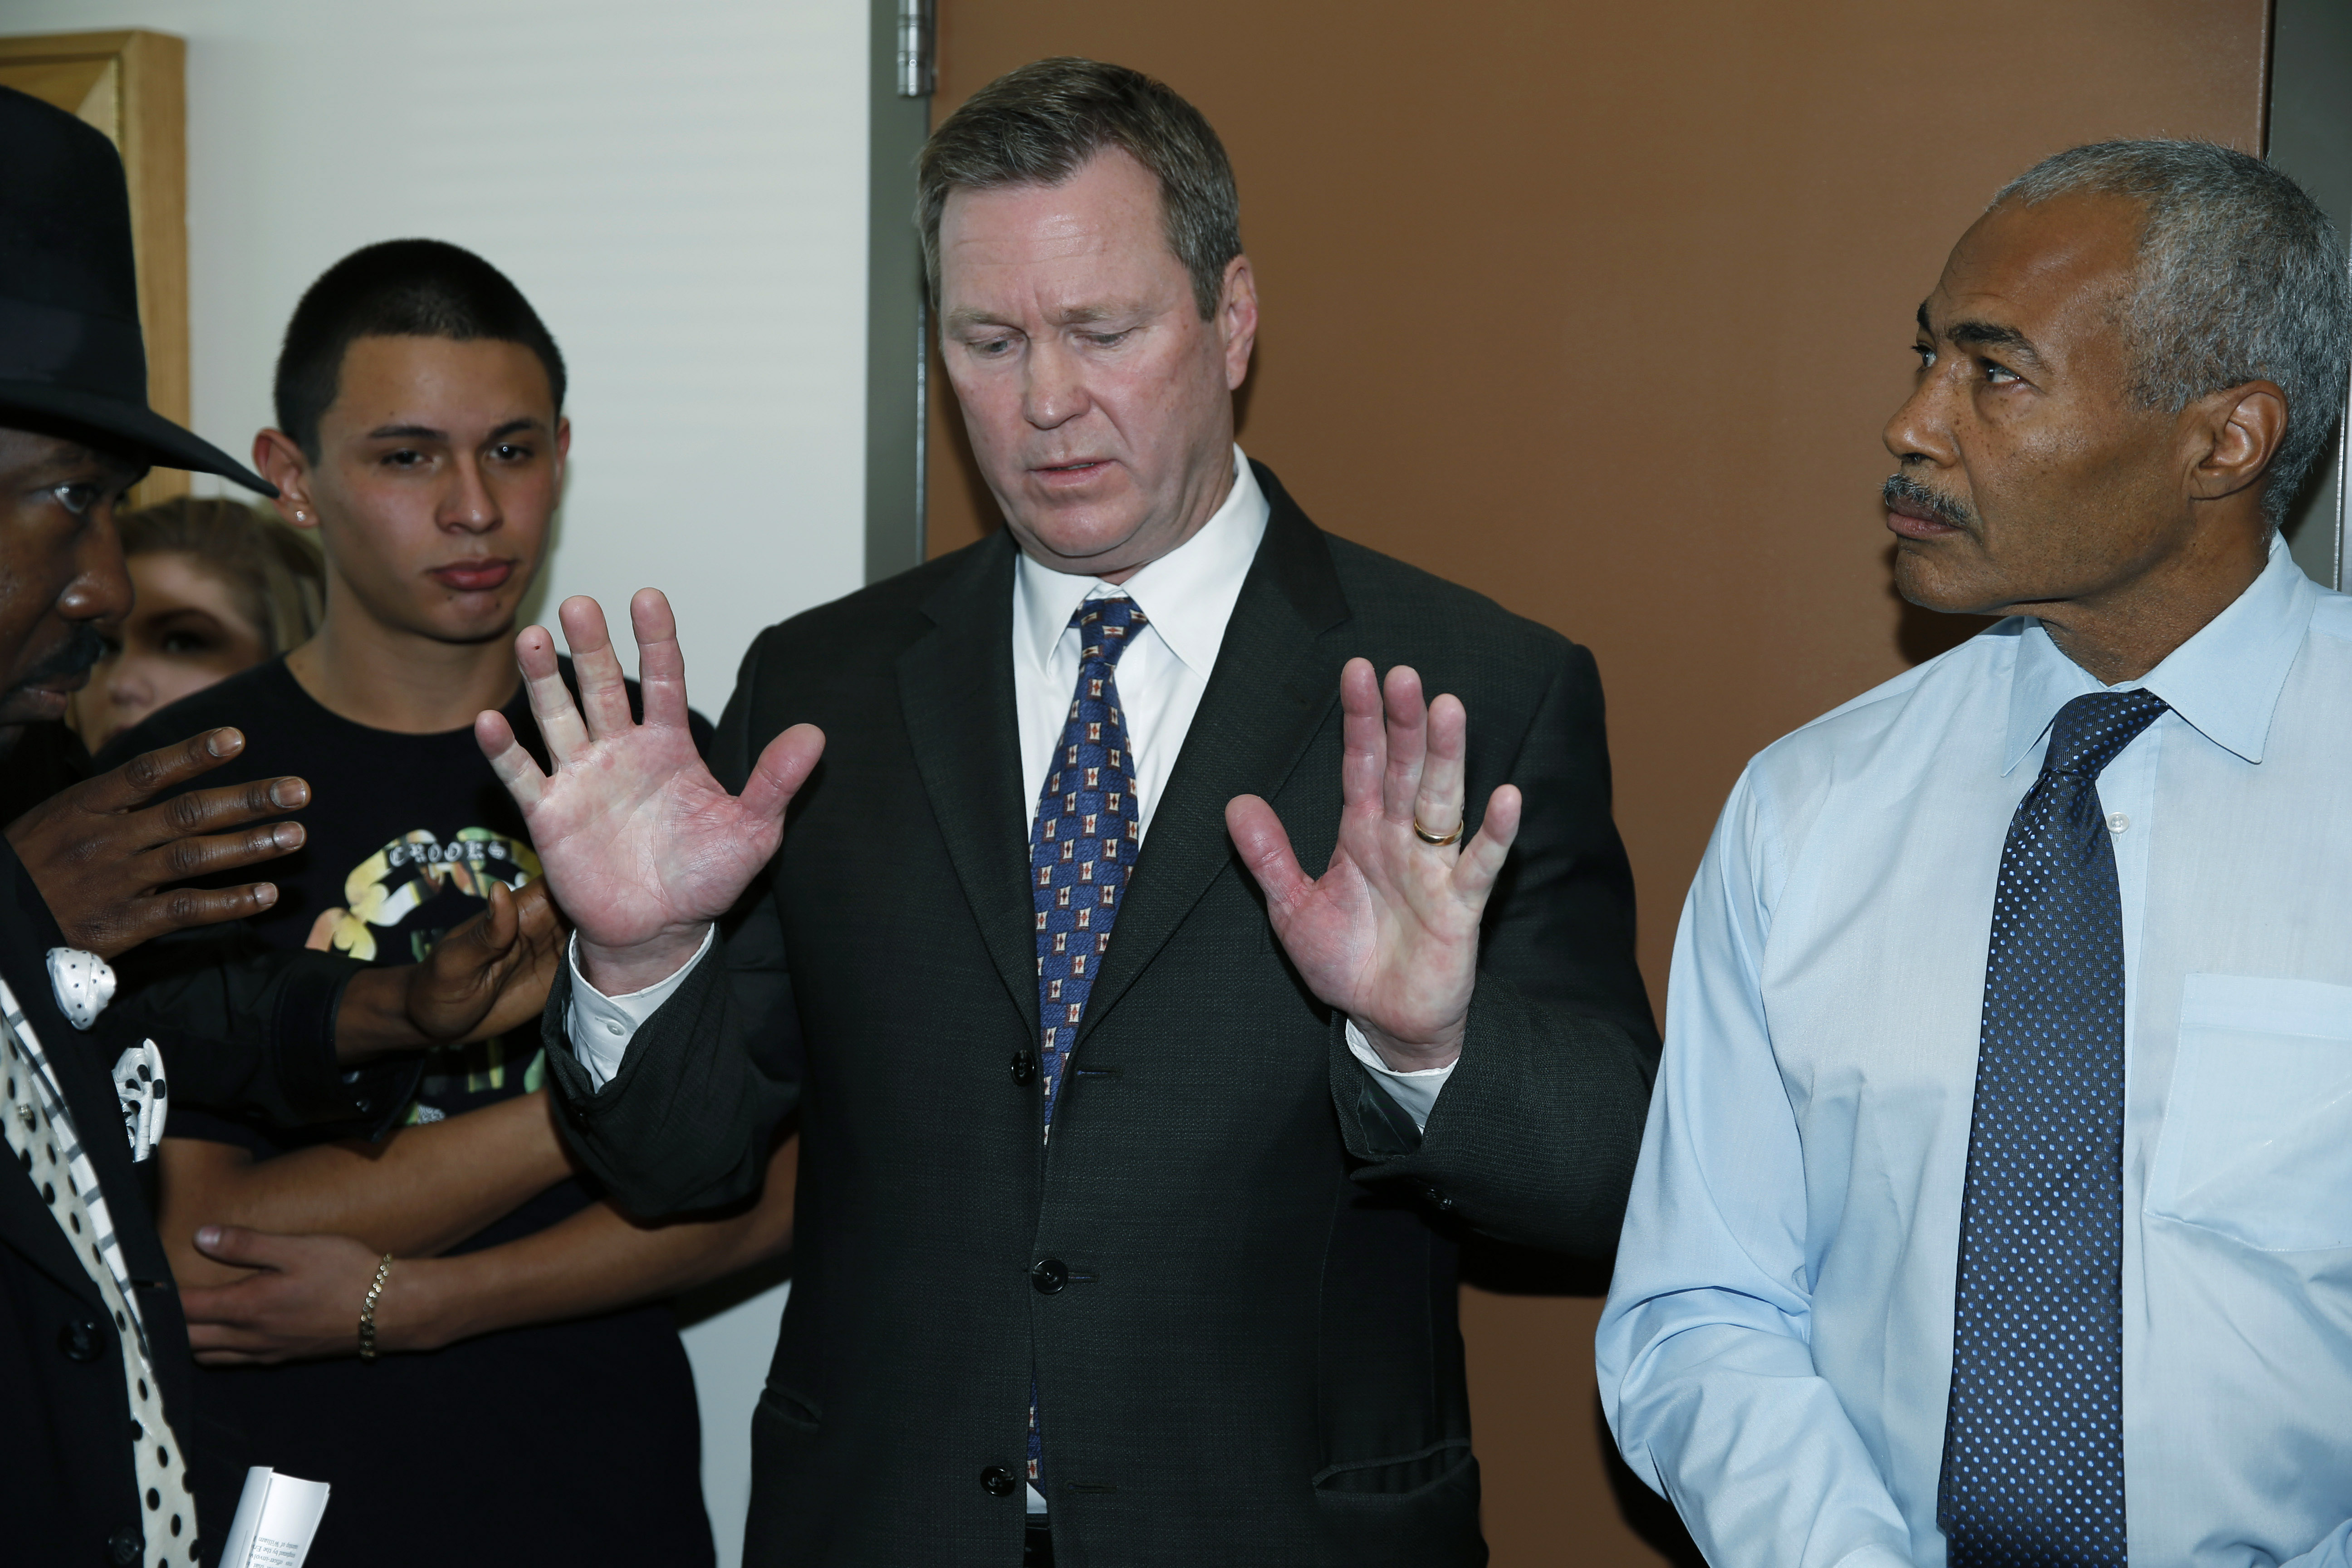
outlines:
M301 823L249 825L308 806L301 778L256 778L153 804L242 750L245 736L214 729L132 757L7 825L9 846L68 943L111 959L169 931L245 919L278 903L268 882L172 886L301 849Z

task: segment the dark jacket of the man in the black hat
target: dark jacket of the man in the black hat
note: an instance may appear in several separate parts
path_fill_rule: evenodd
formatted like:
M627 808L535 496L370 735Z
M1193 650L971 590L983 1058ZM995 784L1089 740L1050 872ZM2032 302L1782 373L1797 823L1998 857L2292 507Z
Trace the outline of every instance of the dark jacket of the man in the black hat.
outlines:
M56 922L24 865L0 842L0 976L7 978L26 1023L40 1037L49 1070L89 1152L106 1211L122 1241L122 1260L139 1291L165 1418L188 1446L207 1493L235 1483L205 1472L214 1436L193 1403L188 1326L179 1314L172 1269L155 1237L155 1211L143 1175L122 1135L113 1063L141 1032L155 1034L174 1095L226 1105L332 1105L341 1074L332 1048L310 1063L289 1063L266 1037L242 1044L202 1041L179 1032L134 1030L108 1009L82 1034L49 990L47 952L64 945ZM14 1070L14 1067L12 1067ZM348 1088L341 1095L350 1114ZM132 1403L122 1387L122 1354L106 1300L89 1281L35 1182L0 1173L0 1526L9 1563L136 1563L141 1528L165 1528L139 1502L132 1469ZM207 1561L228 1533L228 1519L200 1521ZM125 1535L127 1533L127 1535ZM181 1542L193 1540L183 1533ZM118 1542L127 1556L115 1556ZM179 1552L172 1561L181 1561Z

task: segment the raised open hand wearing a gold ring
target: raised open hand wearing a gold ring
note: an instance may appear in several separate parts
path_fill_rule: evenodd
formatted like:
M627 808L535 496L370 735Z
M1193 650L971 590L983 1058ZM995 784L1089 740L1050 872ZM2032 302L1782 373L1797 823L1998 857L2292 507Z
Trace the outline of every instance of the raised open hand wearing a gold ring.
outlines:
M1461 701L1423 705L1421 677L1404 665L1383 693L1364 658L1348 661L1338 689L1345 804L1324 875L1301 870L1282 818L1256 795L1228 802L1225 827L1308 987L1348 1013L1390 1067L1444 1067L1461 1053L1479 917L1519 832L1519 790L1494 792L1468 844L1432 844L1463 825Z

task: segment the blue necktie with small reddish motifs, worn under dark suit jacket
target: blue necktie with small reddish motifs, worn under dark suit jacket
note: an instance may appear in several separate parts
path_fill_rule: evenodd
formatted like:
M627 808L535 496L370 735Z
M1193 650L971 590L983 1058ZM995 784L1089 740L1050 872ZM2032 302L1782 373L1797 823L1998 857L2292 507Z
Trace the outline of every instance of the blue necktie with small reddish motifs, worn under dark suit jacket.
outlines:
M1120 654L1145 625L1134 599L1089 599L1070 616L1080 637L1077 691L1061 745L1037 792L1030 827L1030 893L1037 900L1037 1039L1044 1079L1044 1131L1087 1016L1087 992L1110 952L1127 870L1143 842L1136 809L1136 755L1120 715ZM1058 1288L1058 1284L1056 1284ZM1037 1436L1037 1382L1030 1380L1028 1479L1037 1486L1044 1441Z

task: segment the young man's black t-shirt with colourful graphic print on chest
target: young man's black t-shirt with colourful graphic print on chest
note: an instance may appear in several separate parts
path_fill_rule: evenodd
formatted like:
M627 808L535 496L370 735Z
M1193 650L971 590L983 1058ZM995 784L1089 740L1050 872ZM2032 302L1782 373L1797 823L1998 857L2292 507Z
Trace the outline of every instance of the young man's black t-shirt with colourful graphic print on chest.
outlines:
M543 762L520 693L506 717ZM285 661L165 708L101 766L219 724L245 731L245 752L198 788L280 773L310 783L310 806L292 813L308 832L303 849L223 879L278 884L278 905L247 922L249 938L414 964L485 907L494 882L539 877L522 813L470 729L405 736L353 724L313 701ZM696 741L708 733L696 719ZM435 1051L400 1121L461 1117L532 1093L543 1077L536 1025ZM186 1103L174 1103L169 1135L238 1145L254 1159L306 1143ZM590 1201L567 1180L452 1251L527 1237ZM343 1356L205 1371L200 1392L235 1434L228 1474L273 1465L334 1488L315 1568L713 1559L694 1380L666 1302L374 1366ZM233 1495L198 1505L212 1509L207 1535L235 1512Z

